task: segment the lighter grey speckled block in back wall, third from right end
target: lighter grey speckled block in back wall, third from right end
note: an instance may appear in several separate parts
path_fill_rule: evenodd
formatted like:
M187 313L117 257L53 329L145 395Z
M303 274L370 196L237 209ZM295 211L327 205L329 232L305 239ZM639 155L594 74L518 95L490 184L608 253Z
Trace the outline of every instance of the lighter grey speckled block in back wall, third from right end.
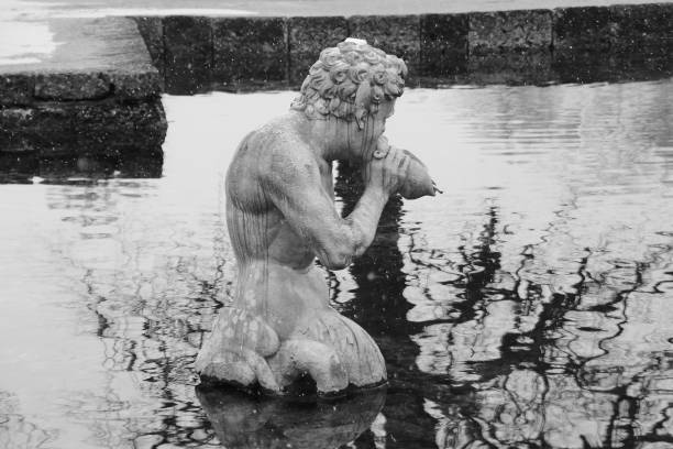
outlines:
M549 10L470 13L468 54L549 50L552 17Z

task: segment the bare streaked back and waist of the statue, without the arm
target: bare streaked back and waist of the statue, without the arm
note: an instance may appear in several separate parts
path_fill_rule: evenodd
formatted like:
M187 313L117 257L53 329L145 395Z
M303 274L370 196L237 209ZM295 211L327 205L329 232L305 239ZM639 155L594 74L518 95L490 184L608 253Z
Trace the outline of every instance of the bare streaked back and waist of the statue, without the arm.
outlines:
M273 327L284 333L283 327L289 329L301 318L298 311L328 307L329 293L323 273L315 266L315 252L257 176L269 150L265 143L255 133L246 136L227 177L227 223L239 262L233 305L276 321ZM333 198L331 166L320 164L320 173L322 187Z

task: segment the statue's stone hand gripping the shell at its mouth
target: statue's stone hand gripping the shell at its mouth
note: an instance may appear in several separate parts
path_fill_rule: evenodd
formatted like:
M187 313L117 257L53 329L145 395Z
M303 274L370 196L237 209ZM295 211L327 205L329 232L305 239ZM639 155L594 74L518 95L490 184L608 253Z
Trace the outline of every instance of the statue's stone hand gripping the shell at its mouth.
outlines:
M382 146L374 152L368 163L366 183L367 187L379 188L390 196L404 186L411 160L404 150Z

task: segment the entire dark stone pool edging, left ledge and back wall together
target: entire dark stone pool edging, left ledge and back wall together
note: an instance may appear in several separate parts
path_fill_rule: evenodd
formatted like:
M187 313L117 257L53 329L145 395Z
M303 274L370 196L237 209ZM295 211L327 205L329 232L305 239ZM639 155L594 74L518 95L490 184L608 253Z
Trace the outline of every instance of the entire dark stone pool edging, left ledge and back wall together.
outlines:
M410 15L79 20L88 21L92 34L101 30L103 44L93 47L102 53L109 35L123 28L130 44L110 53L132 54L122 55L125 63L100 67L0 65L0 155L161 154L167 128L162 94L296 89L320 51L349 36L405 58L411 87L673 74L671 2Z

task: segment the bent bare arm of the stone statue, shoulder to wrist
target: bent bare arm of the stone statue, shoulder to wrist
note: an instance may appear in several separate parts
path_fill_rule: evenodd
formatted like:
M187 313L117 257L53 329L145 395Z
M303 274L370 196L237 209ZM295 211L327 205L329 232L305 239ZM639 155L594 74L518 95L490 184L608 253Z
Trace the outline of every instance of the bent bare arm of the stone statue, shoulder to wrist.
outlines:
M301 236L330 270L346 267L374 240L389 193L369 184L349 217L341 218L322 187L315 158L301 151L276 154L261 174L265 190L293 230Z

